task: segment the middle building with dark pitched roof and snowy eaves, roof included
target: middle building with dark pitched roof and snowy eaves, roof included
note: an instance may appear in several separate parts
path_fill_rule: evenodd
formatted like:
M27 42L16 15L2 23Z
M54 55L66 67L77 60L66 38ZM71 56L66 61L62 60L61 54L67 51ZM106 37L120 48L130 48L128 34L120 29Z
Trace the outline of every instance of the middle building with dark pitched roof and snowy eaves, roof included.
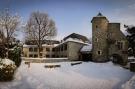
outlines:
M54 47L57 57L67 57L69 60L82 60L80 51L83 46L89 45L85 36L72 33L65 37L63 41Z

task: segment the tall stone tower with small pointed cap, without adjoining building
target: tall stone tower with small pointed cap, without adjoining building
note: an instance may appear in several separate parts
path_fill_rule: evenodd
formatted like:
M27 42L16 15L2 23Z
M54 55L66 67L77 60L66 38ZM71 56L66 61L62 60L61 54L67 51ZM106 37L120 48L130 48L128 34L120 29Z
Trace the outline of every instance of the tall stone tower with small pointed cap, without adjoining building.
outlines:
M108 59L108 19L99 13L92 21L92 59L104 62Z

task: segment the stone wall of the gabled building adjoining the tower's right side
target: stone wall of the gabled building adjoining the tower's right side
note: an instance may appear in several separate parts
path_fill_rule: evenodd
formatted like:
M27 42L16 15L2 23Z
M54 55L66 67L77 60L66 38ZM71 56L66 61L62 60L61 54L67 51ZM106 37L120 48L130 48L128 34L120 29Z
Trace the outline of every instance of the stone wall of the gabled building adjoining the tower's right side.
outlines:
M109 56L118 54L122 57L123 62L126 63L128 59L128 41L124 34L120 31L120 23L109 23L108 38L113 41L109 45ZM123 43L122 49L118 48L118 42Z

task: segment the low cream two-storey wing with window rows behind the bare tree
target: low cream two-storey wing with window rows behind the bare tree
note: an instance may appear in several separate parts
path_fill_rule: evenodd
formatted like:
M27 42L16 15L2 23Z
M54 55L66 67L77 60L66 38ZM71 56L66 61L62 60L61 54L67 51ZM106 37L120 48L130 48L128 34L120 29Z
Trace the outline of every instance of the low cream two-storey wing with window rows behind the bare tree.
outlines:
M51 58L54 56L53 48L58 45L60 42L56 40L44 40L40 56L42 58ZM37 58L38 57L38 46L35 44L35 41L26 41L23 45L23 55L24 57Z

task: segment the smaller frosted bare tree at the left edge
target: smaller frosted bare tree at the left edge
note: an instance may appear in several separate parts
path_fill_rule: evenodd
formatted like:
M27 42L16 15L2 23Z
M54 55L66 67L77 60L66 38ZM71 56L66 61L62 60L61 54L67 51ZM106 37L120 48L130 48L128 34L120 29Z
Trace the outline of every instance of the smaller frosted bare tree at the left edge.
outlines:
M0 13L0 28L1 32L4 33L7 45L7 57L9 52L9 44L11 39L15 36L17 27L19 25L20 19L18 15L12 15L8 9L5 9Z

